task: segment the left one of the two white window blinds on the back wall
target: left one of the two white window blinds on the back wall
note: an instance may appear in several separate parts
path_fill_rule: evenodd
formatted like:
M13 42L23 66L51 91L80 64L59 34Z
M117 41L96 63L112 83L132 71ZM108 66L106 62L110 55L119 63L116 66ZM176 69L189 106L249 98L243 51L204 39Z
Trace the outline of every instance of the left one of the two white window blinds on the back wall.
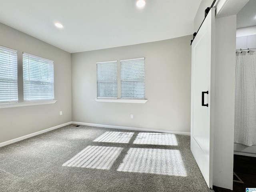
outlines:
M117 61L97 62L97 98L117 99Z

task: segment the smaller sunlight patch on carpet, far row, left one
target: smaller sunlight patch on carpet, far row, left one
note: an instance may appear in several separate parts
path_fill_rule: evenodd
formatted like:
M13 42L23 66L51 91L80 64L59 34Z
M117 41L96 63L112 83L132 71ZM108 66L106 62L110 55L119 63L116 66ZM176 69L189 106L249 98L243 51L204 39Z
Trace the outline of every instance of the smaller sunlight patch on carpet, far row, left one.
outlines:
M133 134L133 132L107 131L98 138L96 138L94 142L129 143Z

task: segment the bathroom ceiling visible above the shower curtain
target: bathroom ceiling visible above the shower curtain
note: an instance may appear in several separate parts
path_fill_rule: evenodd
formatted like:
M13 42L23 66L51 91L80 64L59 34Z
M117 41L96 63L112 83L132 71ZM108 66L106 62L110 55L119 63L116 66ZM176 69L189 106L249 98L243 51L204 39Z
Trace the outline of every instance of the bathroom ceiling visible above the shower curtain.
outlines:
M236 15L236 28L250 26L256 26L256 0L249 0Z

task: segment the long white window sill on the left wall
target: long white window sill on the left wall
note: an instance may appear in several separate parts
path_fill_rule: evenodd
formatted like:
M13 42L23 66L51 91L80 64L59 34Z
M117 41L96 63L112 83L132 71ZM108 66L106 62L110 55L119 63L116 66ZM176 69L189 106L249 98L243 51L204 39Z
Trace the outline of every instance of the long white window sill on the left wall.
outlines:
M31 102L20 102L20 103L0 103L0 109L4 108L14 108L14 107L26 107L26 106L34 106L34 105L46 105L46 104L54 104L57 100L50 101L31 101Z

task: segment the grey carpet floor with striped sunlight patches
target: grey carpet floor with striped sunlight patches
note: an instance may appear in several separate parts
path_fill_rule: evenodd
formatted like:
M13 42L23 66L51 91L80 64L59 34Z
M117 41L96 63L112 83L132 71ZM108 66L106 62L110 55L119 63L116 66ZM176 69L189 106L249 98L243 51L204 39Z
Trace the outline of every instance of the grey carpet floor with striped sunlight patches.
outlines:
M184 135L64 126L0 148L1 192L213 192Z

